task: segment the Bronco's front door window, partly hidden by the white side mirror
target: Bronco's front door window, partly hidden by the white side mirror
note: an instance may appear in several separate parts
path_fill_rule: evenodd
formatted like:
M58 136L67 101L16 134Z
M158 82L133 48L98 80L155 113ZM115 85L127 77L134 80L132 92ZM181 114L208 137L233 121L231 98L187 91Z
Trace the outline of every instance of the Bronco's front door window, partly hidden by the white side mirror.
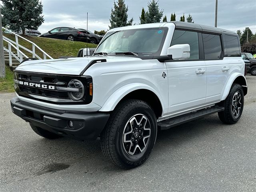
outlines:
M190 58L199 59L199 43L198 33L193 31L175 30L171 46L177 44L189 44L190 45Z

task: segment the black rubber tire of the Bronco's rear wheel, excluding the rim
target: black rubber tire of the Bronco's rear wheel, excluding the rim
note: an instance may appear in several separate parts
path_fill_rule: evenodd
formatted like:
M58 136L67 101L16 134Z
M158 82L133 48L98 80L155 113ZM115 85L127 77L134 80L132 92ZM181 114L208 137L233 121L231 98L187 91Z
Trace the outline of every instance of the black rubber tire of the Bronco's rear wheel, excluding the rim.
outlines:
M234 95L237 92L241 96L241 100L240 100L241 108L240 108L239 114L237 116L234 116L232 114L232 103L233 103ZM218 112L218 116L223 123L234 124L238 122L244 108L244 92L243 92L242 86L240 84L232 84L227 98L220 103L220 106L223 106L225 108L224 111Z

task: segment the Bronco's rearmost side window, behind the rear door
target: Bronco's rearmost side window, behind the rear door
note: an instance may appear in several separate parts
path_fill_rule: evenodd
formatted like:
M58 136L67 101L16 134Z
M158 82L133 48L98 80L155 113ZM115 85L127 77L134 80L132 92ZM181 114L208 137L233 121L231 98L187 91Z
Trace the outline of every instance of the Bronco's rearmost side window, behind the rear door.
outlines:
M228 57L240 57L240 48L237 36L225 35Z

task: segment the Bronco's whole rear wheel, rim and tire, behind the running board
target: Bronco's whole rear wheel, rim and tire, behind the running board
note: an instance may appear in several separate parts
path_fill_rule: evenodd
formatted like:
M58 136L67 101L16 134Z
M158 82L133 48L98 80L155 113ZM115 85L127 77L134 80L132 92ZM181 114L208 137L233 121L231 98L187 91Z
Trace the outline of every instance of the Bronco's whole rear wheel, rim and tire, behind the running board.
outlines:
M227 98L221 104L225 109L218 112L223 123L234 124L240 119L244 108L244 92L240 84L233 84Z

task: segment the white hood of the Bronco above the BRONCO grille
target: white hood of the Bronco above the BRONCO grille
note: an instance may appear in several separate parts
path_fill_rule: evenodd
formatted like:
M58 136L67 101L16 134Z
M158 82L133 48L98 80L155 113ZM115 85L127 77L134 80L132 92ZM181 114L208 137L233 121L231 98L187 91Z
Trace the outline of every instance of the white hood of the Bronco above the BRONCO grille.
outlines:
M128 56L94 56L68 59L29 60L20 64L16 70L48 74L80 75L82 70L92 61L106 59L108 62L137 61L140 58ZM95 64L97 65L97 63Z

